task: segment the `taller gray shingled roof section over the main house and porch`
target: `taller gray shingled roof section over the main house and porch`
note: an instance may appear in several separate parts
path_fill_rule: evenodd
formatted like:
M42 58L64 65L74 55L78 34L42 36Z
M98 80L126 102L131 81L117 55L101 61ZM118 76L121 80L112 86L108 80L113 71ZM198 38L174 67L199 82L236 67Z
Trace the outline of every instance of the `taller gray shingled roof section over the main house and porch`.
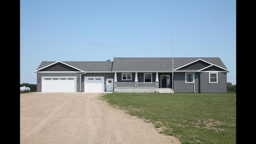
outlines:
M226 69L220 58L173 58L174 69L204 60ZM172 58L114 58L112 71L171 71Z

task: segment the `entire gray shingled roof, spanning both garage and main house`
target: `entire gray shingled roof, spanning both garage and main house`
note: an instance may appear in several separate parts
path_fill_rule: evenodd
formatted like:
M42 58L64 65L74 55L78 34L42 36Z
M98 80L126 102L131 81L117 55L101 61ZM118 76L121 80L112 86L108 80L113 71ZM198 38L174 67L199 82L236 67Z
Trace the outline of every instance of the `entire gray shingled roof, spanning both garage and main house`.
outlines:
M220 58L173 58L174 70L196 60L227 69ZM56 62L41 62L37 70ZM113 62L62 62L85 72L170 72L172 58L114 58Z

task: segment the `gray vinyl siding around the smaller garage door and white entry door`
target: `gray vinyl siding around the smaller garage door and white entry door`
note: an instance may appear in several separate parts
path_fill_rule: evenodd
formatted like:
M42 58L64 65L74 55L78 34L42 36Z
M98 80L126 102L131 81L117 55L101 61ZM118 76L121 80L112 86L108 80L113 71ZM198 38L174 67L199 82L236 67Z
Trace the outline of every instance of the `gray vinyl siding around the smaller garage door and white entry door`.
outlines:
M104 76L104 92L106 92L106 79L113 78L114 80L115 73L86 73L82 74L82 84L81 84L81 92L84 92L84 77L85 76Z

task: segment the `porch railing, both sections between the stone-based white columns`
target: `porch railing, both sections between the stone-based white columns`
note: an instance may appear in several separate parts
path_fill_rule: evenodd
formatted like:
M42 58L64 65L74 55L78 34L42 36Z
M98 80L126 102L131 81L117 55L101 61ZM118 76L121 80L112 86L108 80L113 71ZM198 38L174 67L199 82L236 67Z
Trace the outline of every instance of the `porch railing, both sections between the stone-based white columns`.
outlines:
M135 82L117 82L117 88L135 88ZM156 88L156 82L138 82L138 88Z

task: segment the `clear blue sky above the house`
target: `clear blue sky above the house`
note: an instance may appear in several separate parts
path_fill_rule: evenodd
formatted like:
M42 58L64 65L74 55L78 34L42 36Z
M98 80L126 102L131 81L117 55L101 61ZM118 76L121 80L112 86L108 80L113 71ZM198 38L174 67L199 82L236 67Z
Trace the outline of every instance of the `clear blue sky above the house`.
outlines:
M172 48L220 58L236 84L236 0L20 0L20 84L36 84L42 61L166 58Z

